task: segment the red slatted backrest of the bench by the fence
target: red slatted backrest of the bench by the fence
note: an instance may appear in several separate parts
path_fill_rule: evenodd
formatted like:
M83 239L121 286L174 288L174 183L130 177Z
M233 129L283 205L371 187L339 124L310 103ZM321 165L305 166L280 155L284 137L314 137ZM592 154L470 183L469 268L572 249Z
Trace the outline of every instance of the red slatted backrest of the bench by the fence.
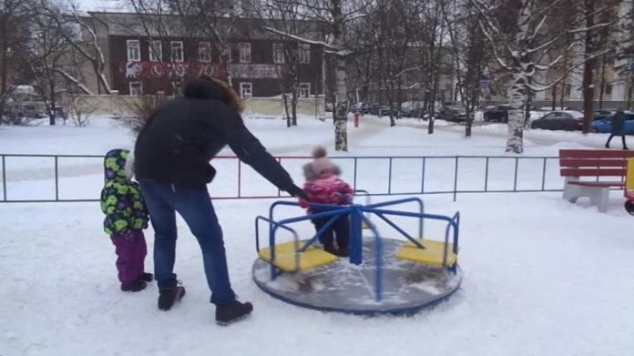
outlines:
M560 149L562 177L625 177L632 151L609 149Z

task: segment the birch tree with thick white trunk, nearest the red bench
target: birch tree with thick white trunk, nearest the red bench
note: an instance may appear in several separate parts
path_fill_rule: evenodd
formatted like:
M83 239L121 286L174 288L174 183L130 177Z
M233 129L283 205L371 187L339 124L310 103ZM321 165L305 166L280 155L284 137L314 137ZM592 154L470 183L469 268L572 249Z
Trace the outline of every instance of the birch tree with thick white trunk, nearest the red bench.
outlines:
M557 56L555 60L546 62L545 54L567 34L586 33L607 24L588 27L579 20L566 24L566 30L553 33L545 31L545 24L552 17L551 12L564 0L469 1L483 16L480 27L493 46L497 65L511 75L506 97L513 110L509 113L506 151L522 153L530 91L547 90L561 80L557 78L541 83L537 79L537 72L547 71L563 58ZM576 66L595 56L598 54L584 57Z

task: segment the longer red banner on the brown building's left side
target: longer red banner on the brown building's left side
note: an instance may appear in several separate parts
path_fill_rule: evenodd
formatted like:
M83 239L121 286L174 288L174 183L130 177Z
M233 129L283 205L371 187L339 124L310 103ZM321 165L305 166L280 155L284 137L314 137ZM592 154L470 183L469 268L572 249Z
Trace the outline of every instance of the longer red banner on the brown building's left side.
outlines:
M125 62L119 67L127 79L158 79L165 77L213 76L224 78L225 65L212 63Z

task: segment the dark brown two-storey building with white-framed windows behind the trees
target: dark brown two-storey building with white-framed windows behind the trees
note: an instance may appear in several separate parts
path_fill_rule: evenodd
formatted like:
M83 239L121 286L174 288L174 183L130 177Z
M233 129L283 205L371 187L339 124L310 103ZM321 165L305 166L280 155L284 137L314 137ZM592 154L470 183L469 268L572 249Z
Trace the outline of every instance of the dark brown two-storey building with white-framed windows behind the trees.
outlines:
M182 28L177 16L156 18L133 13L92 12L89 19L107 63L106 76L120 95L174 94L188 78L207 75L226 79L240 97L281 95L291 67L296 71L302 97L323 94L323 48L300 44L262 30L261 19L217 19L217 28L229 44L220 53L214 40L199 31ZM309 22L304 37L322 39ZM292 53L292 64L284 50ZM94 76L83 69L85 76ZM97 93L97 82L87 80Z

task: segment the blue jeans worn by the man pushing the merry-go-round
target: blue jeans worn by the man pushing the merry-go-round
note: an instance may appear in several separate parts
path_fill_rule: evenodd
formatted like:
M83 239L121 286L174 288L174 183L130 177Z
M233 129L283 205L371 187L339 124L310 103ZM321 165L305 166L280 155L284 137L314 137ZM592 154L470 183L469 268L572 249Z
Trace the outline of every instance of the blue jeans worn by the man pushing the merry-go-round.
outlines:
M174 261L178 212L199 241L211 302L216 305L233 303L236 296L231 290L222 229L207 189L178 188L148 180L140 180L139 184L155 232L154 274L158 289L177 286Z

